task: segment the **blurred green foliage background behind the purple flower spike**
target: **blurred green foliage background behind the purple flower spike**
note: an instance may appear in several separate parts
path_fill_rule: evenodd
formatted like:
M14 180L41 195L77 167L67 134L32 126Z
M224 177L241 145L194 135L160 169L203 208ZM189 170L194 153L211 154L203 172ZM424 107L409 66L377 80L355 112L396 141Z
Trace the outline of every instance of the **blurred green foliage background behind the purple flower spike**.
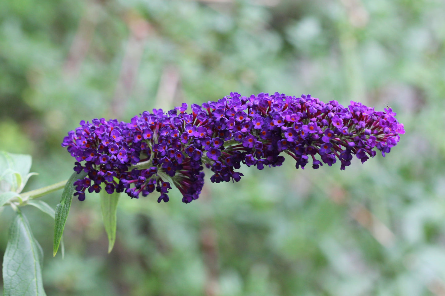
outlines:
M191 204L122 196L110 254L97 195L73 201L63 260L26 207L48 295L445 295L444 16L442 0L0 1L0 150L32 155L25 190L71 175L60 143L80 120L230 92L388 104L407 131L342 172L287 159L207 174Z

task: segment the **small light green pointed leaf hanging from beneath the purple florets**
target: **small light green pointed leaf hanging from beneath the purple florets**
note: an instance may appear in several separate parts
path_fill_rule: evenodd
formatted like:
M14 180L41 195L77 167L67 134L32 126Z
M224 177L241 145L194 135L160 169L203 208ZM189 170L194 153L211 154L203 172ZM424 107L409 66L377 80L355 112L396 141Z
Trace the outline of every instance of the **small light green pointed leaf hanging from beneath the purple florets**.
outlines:
M116 241L116 212L120 195L121 194L117 192L108 194L105 190L101 191L102 217L104 220L105 231L108 236L108 252L113 250L114 242Z

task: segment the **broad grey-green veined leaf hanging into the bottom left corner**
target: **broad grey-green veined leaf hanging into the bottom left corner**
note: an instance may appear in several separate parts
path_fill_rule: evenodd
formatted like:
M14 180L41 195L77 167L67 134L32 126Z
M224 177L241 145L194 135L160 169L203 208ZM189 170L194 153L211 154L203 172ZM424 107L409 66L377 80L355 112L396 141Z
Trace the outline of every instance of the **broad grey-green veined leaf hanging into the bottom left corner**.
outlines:
M20 211L9 228L3 257L4 296L44 296L43 251Z

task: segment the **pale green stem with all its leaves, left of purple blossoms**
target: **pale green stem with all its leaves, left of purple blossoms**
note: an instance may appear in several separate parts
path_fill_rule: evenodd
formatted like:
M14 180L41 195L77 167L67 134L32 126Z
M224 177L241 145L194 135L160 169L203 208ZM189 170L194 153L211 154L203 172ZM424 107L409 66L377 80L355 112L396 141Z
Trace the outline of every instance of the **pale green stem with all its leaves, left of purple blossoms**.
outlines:
M8 244L3 258L3 294L4 296L46 296L43 280L43 250L32 234L28 220L20 207L32 205L55 220L53 255L64 245L63 230L73 200L73 183L86 176L85 172L76 172L69 180L44 188L21 193L28 178L36 173L29 173L31 156L0 151L0 213L4 206L11 206L16 216L8 232ZM54 210L42 200L36 200L50 192L64 188L60 204ZM119 193L101 192L101 208L105 231L109 239L108 252L113 249L116 240L116 212Z

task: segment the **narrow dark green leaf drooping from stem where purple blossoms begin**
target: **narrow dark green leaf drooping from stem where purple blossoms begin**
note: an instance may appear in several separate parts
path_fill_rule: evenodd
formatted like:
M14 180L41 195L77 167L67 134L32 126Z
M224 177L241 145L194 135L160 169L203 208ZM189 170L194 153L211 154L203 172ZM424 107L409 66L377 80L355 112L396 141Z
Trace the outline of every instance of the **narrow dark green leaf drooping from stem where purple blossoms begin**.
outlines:
M56 218L54 221L54 251L53 256L56 256L59 248L60 241L62 239L63 229L65 228L66 218L68 218L69 208L71 208L71 201L73 200L73 194L75 191L74 182L79 179L85 178L87 173L81 171L79 174L74 172L69 177L68 182L65 184L65 188L62 192L62 198L60 204L56 207Z

